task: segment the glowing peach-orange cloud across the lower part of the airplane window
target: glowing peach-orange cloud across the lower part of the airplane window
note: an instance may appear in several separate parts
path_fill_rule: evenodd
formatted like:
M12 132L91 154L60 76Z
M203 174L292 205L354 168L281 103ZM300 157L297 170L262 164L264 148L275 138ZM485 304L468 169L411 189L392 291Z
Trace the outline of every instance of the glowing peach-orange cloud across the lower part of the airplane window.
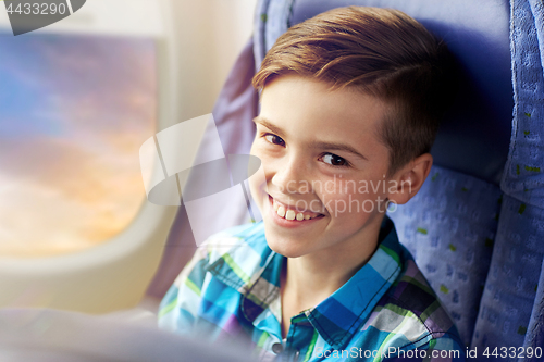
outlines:
M104 154L47 138L16 143L12 160L1 154L1 254L44 255L102 242L122 232L145 200L131 160L104 163Z

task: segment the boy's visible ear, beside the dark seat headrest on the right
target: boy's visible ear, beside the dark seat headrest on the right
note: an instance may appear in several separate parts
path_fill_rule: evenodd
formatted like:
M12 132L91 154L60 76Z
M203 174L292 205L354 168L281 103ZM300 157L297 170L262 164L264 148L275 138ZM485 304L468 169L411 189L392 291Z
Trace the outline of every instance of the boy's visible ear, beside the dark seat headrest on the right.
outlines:
M388 200L399 204L408 202L418 194L432 165L431 153L423 153L397 171L390 179Z

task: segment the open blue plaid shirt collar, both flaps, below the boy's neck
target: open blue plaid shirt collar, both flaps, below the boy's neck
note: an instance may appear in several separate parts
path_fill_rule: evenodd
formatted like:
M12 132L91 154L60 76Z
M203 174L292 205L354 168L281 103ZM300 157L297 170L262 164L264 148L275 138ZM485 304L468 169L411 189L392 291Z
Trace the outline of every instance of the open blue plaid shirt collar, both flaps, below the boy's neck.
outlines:
M242 311L251 323L280 295L280 272L283 257L272 251L264 239L261 223L237 235L248 249L239 246L215 260L208 270L223 283L243 295ZM393 222L384 216L379 247L372 258L338 290L311 310L306 316L321 337L333 348L341 349L367 321L371 311L400 274L401 246ZM240 274L250 277L240 277Z

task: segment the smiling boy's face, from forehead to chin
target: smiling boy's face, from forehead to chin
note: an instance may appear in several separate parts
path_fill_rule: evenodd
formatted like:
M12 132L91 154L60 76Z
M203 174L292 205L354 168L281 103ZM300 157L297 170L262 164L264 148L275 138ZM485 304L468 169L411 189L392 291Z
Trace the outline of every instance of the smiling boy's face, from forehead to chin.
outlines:
M264 179L250 178L251 194L270 248L289 258L370 257L391 186L388 150L378 136L385 103L329 87L294 75L274 79L255 118L251 154Z

